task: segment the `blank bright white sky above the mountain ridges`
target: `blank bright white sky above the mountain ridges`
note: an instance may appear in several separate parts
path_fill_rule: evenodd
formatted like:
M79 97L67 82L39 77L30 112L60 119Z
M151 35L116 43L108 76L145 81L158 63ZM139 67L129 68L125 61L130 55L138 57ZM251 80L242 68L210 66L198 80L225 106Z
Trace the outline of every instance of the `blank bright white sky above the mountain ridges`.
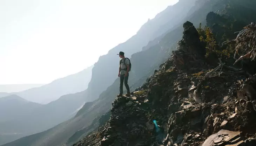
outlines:
M0 84L79 72L177 1L0 0Z

